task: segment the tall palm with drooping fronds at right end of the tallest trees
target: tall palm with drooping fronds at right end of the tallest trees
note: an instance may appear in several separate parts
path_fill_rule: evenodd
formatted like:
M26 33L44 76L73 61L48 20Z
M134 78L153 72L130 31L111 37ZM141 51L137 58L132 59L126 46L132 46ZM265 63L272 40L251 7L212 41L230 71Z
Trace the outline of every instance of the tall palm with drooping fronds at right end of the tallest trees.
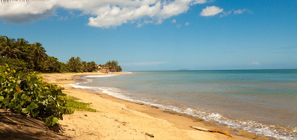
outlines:
M32 44L32 55L35 59L36 67L35 70L37 70L38 65L40 65L43 60L46 60L47 55L45 52L46 50L42 47L41 43L35 42L34 44Z

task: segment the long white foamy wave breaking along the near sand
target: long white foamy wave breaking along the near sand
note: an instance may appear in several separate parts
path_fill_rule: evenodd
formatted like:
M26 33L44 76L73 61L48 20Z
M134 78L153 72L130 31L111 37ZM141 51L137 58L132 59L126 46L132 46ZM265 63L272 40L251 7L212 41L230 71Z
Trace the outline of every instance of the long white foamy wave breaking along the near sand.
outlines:
M226 118L223 115L220 115L218 113L210 113L210 112L200 111L198 109L192 109L188 107L178 107L178 106L163 105L163 104L148 102L150 100L136 100L131 97L125 96L125 94L122 94L123 92L118 88L88 87L88 86L81 86L79 85L79 83L69 84L69 85L73 86L74 88L86 89L97 93L105 93L110 96L113 96L119 99L124 99L131 102L142 103L150 106L157 106L162 110L169 110L169 111L175 111L182 114L192 115L195 117L202 118L206 121L210 121L210 120L217 121L218 123L225 124L230 128L242 129L256 134L269 136L275 139L293 140L296 138L296 135L294 134L287 134L287 128L280 127L277 125L265 125L255 121L239 121L239 120ZM297 131L297 127L290 128L290 129L292 129L293 133Z

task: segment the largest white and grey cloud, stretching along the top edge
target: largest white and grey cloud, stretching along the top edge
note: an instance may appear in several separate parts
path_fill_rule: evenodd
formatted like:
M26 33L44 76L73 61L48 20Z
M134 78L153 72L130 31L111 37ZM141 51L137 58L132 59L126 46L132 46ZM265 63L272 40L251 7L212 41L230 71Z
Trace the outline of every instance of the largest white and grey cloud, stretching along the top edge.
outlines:
M22 23L46 19L55 9L79 10L90 15L87 25L110 28L125 23L161 24L172 16L186 13L190 6L207 0L49 0L30 3L0 3L0 18L6 23ZM149 22L148 22L149 21Z

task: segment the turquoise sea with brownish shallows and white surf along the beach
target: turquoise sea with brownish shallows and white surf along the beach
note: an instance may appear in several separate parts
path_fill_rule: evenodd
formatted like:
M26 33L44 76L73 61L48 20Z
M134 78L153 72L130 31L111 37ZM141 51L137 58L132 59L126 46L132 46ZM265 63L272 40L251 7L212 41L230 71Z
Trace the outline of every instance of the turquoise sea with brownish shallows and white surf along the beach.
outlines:
M276 139L297 136L297 70L143 71L72 84Z

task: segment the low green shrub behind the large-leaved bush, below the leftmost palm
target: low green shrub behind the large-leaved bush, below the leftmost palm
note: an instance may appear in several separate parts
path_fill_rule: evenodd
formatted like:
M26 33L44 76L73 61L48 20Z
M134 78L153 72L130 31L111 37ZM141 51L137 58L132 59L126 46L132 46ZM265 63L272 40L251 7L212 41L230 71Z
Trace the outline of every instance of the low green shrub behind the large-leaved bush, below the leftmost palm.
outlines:
M14 59L14 58L0 58L0 65L8 64L8 68L15 71L24 71L30 69L30 66L27 62L24 62L21 59Z

